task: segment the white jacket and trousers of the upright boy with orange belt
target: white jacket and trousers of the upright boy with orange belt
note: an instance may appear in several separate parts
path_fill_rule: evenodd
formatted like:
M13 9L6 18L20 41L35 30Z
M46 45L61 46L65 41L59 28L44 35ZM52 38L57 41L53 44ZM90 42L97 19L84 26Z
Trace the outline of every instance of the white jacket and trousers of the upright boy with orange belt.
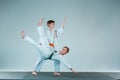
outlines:
M58 28L56 30L57 31L56 37L54 34L55 29L53 29L52 32L50 33L50 30L45 30L43 26L38 26L37 30L40 35L39 44L41 44L43 47L46 47L47 49L49 49L52 53L53 48L51 48L49 46L49 43L54 43L54 45L56 44L55 42L58 40L58 37L60 36L60 34L63 32L63 27L61 26L60 28ZM55 48L56 48L56 45L55 45ZM39 61L37 63L38 66L40 65L39 63L41 63L41 61ZM59 72L60 71L60 61L54 60L54 67L55 67L55 72Z

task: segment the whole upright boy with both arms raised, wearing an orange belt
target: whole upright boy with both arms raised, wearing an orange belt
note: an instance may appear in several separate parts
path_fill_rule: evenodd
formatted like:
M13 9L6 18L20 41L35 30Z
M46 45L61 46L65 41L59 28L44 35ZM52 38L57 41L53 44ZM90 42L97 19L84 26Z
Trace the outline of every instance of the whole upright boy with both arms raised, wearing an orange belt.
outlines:
M55 27L55 21L54 20L49 20L47 21L47 26L48 30L45 30L44 27L42 26L44 19L42 18L39 23L38 23L38 33L40 35L39 38L39 44L48 48L51 52L54 52L56 49L55 42L60 36L60 34L63 32L64 29L64 24L66 21L66 17L64 18L64 21L61 25L61 27L57 28L57 30L54 29ZM54 75L60 76L60 62L59 61L54 61L55 65L55 72ZM34 73L34 72L33 72Z

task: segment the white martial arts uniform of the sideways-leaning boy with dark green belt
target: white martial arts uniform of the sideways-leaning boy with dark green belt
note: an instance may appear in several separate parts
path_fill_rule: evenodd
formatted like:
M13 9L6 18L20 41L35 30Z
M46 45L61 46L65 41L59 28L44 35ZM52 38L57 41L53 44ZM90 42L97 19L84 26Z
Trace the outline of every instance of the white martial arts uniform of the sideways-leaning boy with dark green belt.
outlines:
M41 45L39 45L38 43L36 43L33 39L31 39L30 37L26 36L24 38L24 40L30 44L32 44L33 46L35 46L37 48L37 50L39 51L39 53L42 55L41 56L41 60L38 61L38 63L36 64L35 67L35 71L39 71L42 68L42 65L45 62L45 59L49 57L49 55L51 54L50 50L48 50L46 47L43 47ZM52 56L53 61L55 61L54 63L62 63L63 65L65 65L68 69L71 69L72 67L70 65L68 65L68 63L64 60L63 56L57 52L54 53L54 55ZM59 66L59 65L57 65ZM59 67L55 67L56 72L59 72Z

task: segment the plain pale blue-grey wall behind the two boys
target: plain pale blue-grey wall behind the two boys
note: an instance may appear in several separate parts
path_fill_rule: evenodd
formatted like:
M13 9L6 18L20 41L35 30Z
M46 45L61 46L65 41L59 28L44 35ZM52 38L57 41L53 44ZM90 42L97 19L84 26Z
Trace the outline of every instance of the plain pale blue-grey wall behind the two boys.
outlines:
M59 48L77 71L120 70L120 0L0 0L0 71L32 71L39 53L20 38L25 32L38 41L37 23L44 17L61 26ZM69 71L64 66L62 71ZM53 71L47 61L42 71Z

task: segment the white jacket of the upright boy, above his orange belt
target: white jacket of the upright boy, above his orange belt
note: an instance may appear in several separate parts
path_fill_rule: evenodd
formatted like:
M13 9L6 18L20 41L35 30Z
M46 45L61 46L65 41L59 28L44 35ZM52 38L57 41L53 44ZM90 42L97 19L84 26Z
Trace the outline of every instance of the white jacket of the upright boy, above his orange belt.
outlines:
M63 32L63 27L61 26L57 30L53 29L51 33L50 30L45 30L43 26L39 26L37 30L40 35L39 43L42 43L43 46L48 47L47 44L56 42L60 34ZM57 31L57 37L54 35L55 31Z

